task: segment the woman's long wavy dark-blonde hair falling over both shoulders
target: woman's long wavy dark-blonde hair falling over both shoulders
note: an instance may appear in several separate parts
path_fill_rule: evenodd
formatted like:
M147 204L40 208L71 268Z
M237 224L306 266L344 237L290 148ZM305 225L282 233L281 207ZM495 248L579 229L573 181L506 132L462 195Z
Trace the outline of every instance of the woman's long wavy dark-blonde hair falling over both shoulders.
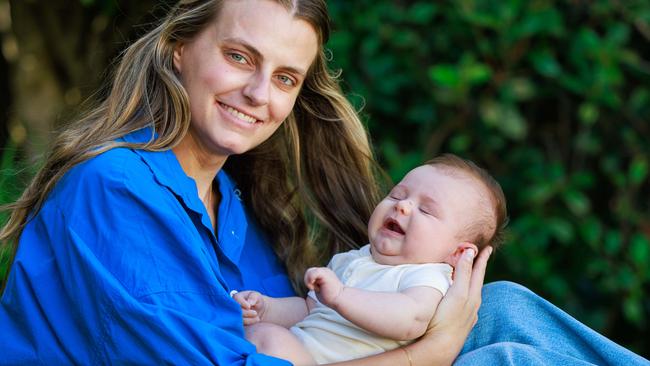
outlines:
M297 290L306 267L367 240L378 200L375 163L356 111L327 67L324 0L276 0L316 30L321 45L284 127L257 148L231 156L224 169L243 192ZM72 167L116 147L163 151L190 126L189 99L173 71L177 42L191 41L217 17L222 1L183 0L122 54L108 96L55 138L44 166L13 204L0 242L14 246L49 192ZM146 143L116 139L144 127ZM319 246L316 245L319 243Z

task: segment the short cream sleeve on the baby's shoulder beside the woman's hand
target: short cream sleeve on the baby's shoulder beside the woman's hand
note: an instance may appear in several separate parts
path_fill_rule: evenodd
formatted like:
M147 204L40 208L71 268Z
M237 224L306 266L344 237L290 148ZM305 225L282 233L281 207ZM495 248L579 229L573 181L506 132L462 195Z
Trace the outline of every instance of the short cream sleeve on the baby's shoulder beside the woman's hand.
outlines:
M445 263L429 263L405 266L401 275L398 291L410 287L433 287L442 294L446 294L451 286L451 273L453 269Z

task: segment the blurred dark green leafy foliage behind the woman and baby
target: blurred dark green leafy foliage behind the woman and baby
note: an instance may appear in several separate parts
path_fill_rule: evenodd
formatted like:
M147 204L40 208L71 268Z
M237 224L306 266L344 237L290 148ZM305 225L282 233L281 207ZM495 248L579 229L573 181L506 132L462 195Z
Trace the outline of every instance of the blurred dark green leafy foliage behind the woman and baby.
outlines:
M127 3L78 4L78 16L108 20L97 31L104 37L130 29L106 41L110 52L102 60L138 34L122 23L143 24L157 14L140 10L153 1L135 10ZM511 217L508 243L493 257L487 280L522 283L649 357L650 3L328 3L332 65L342 70L391 177L442 152L486 167L501 182ZM4 30L4 43L12 29ZM7 57L6 44L3 51L5 103L17 98L16 85L6 81L17 58ZM94 74L92 83L67 85L64 97L71 88L88 95L103 76L101 69ZM31 130L20 111L0 107L7 111L0 137L9 136L0 202L9 202L22 184L17 169L32 166L25 162L35 154L25 151L35 148L25 148Z

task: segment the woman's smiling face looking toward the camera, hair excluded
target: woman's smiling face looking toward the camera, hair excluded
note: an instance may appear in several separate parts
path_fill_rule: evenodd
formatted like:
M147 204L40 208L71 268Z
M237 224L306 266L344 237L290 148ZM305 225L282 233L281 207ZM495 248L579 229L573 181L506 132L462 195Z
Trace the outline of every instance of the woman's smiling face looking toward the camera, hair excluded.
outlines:
M174 51L196 146L226 158L268 139L291 112L317 52L312 26L280 4L225 1L214 23Z

